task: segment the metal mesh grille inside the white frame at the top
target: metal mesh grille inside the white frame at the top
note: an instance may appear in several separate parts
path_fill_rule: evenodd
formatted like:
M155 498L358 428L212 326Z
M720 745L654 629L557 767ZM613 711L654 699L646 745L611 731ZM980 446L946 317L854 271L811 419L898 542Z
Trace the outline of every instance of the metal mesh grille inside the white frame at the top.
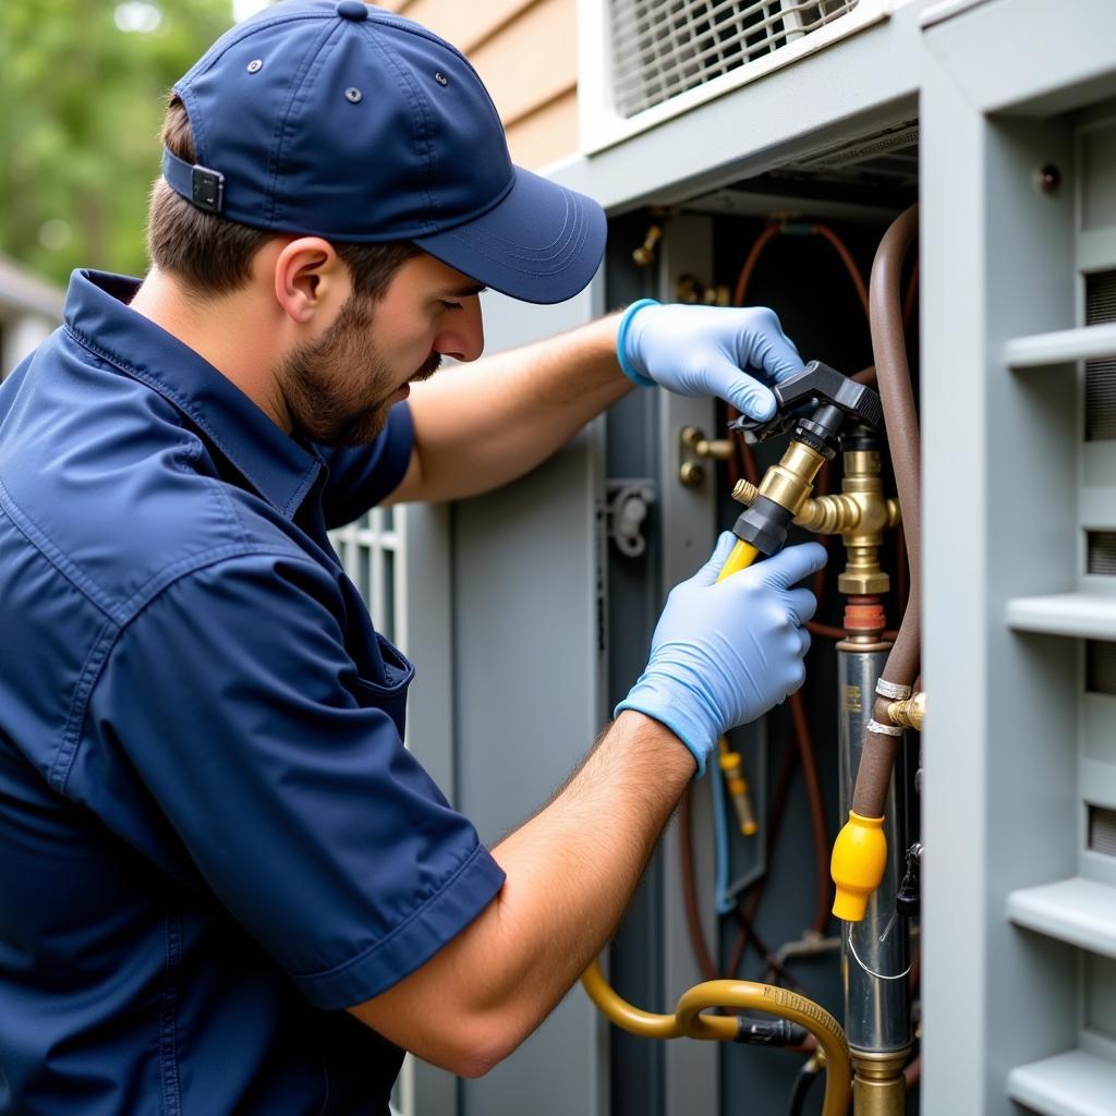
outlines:
M612 0L616 109L635 116L810 35L858 0Z

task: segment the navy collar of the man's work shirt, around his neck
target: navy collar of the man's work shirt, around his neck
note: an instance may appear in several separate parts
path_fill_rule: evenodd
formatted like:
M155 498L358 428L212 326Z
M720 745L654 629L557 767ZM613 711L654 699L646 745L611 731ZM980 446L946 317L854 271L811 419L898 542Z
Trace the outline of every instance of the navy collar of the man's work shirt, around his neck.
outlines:
M228 376L127 304L140 280L75 271L65 321L74 338L181 411L252 487L292 517L323 469L321 458L272 422Z

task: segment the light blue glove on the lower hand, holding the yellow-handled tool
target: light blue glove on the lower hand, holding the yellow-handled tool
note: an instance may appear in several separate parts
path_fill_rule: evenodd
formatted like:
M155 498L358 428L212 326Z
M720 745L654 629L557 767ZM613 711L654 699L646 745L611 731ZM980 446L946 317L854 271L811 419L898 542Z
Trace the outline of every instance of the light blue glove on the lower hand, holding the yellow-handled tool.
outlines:
M614 714L634 709L662 721L694 753L699 778L719 737L802 684L810 634L801 625L817 602L790 586L826 564L820 543L804 542L718 581L735 541L725 531L713 557L671 591L647 667Z

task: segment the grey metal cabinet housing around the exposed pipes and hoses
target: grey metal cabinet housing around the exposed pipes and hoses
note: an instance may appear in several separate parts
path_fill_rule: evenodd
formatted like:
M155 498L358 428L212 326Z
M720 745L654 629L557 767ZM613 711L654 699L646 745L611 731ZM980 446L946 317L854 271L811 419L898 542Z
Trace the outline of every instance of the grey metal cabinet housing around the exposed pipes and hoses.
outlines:
M614 229L644 205L682 209L654 273L616 250L564 310L485 296L490 348L587 320L606 292L612 305L672 297L680 275L712 272L710 214L725 187L917 122L931 710L921 1103L932 1116L1116 1112L1116 693L1096 665L1116 642L1116 575L1089 573L1116 569L1116 440L1086 437L1085 403L1085 362L1103 373L1116 357L1110 318L1085 328L1097 277L1116 271L1114 44L1108 0L895 3L793 66L555 170L600 200ZM828 203L857 209L847 193ZM805 282L800 294L817 297ZM414 748L485 839L577 762L638 668L665 589L724 526L709 479L675 479L677 431L711 421L702 401L634 397L521 483L415 520L448 564L452 623L442 615L414 642L449 655L444 704L431 710L452 731L424 737L416 700ZM650 482L655 500L645 556L620 561L608 499L629 481ZM411 652L422 664L421 646ZM625 930L624 978L656 1010L699 979L677 872L668 838ZM711 894L708 870L700 885ZM609 1043L642 1041L610 1036L575 989L488 1078L420 1067L415 1110L781 1110L729 1071L741 1051L675 1042L609 1057ZM609 1081L615 1066L632 1076Z

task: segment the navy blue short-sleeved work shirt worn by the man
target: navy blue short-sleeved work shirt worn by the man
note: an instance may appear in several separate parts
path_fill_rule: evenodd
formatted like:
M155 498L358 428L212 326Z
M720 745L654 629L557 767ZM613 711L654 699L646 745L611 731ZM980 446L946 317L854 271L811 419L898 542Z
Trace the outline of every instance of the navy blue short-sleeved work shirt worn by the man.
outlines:
M0 386L0 1112L378 1114L402 1051L341 1009L503 882L325 535L410 411L300 443L136 287L75 272Z

